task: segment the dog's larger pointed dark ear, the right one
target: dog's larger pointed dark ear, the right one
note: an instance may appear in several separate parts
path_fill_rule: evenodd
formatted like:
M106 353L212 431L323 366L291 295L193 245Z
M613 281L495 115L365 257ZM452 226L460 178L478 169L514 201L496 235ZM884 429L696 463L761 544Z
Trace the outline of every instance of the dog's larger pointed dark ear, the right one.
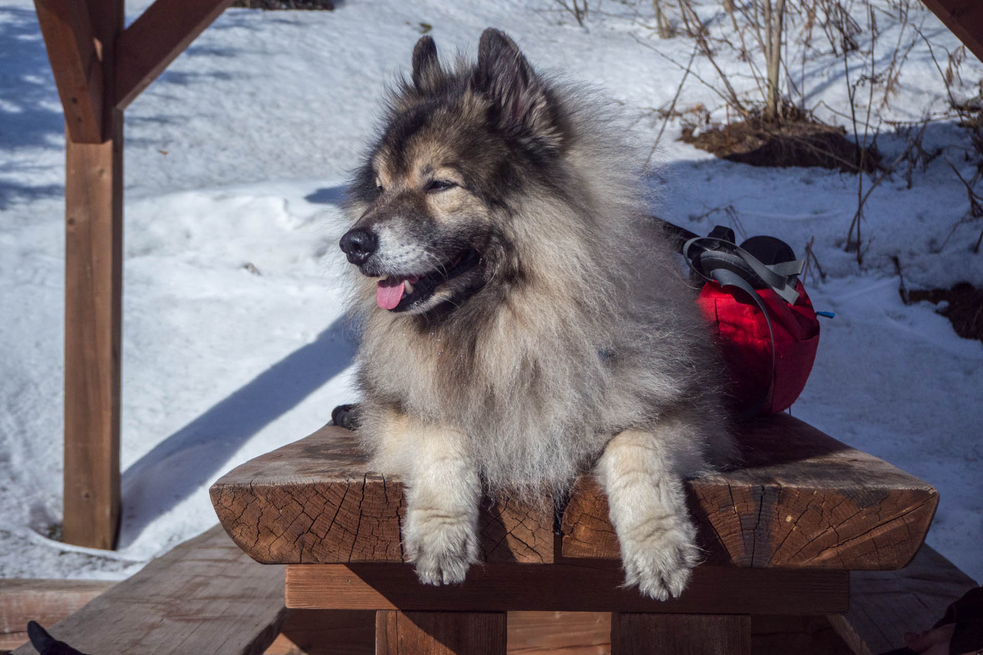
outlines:
M489 27L478 43L473 86L492 99L501 127L556 145L559 133L546 84L505 32Z

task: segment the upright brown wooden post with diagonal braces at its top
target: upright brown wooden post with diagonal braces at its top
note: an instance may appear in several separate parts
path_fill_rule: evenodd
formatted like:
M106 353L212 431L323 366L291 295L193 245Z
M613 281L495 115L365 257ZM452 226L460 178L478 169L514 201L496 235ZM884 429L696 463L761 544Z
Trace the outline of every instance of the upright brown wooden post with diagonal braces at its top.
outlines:
M113 548L120 513L123 109L232 0L34 0L65 110L68 543ZM121 81L121 82L118 82Z

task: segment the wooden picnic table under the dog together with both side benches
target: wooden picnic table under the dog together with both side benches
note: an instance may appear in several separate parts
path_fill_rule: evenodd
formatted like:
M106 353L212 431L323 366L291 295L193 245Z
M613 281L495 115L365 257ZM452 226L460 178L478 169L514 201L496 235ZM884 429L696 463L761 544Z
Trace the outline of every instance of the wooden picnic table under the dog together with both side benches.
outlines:
M918 549L938 501L931 486L789 416L750 423L739 441L742 467L689 483L707 562L682 598L666 603L619 587L617 543L590 476L556 516L551 499L490 504L486 564L460 586L420 585L402 563L401 482L367 471L351 434L325 427L212 487L238 545L216 526L49 628L93 655L259 655L281 630L344 642L351 653L479 653L504 652L514 621L509 648L515 640L516 652L537 652L534 624L547 615L531 612L604 612L610 621L556 615L565 618L553 627L609 626L620 653L653 652L651 639L662 635L666 652L712 642L738 654L750 652L752 617L774 629L788 615L833 615L855 652L874 654L896 647L904 629L930 626L972 583L927 547L908 569L876 571ZM284 589L298 609L286 609ZM346 612L324 613L336 609ZM591 648L604 649L596 626L581 629ZM281 641L269 652L293 652ZM334 652L319 648L312 652Z

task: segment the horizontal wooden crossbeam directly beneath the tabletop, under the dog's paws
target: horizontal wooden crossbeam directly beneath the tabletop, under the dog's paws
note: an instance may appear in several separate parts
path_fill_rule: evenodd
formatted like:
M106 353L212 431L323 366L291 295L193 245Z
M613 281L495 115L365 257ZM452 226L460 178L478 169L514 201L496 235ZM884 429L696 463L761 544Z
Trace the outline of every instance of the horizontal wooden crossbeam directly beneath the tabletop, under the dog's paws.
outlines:
M621 586L617 563L594 566L497 564L472 567L455 586L420 584L401 564L289 565L287 607L462 612L673 612L838 614L846 611L849 573L697 567L677 599L657 601Z

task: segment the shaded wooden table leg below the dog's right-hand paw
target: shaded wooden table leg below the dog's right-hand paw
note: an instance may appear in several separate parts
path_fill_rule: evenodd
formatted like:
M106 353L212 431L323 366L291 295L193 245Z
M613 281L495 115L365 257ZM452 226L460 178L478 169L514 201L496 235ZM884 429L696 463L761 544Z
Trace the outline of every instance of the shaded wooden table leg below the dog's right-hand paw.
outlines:
M643 653L750 655L751 617L742 614L611 613L611 655Z

